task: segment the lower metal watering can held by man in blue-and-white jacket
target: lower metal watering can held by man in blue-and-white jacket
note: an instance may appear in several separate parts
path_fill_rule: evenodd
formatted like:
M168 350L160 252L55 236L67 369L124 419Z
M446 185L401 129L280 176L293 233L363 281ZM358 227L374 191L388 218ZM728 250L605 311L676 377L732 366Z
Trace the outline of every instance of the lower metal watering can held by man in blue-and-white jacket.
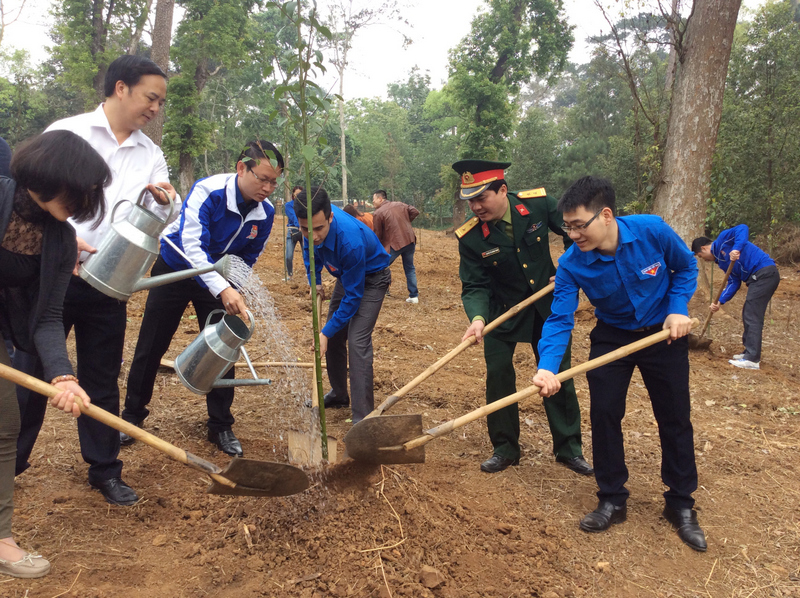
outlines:
M222 318L212 326L211 318L218 313L223 314ZM175 373L186 388L205 395L214 388L272 384L269 378L258 377L245 351L244 344L255 328L253 314L248 311L247 315L250 317L249 328L241 318L228 315L224 309L215 309L208 314L203 330L175 359ZM219 380L238 361L240 354L247 361L254 379Z

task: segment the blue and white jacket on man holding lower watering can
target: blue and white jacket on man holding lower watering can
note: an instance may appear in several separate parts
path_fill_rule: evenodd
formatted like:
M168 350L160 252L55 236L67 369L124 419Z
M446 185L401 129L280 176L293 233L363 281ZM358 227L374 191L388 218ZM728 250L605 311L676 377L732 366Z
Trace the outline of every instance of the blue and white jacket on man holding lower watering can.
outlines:
M192 186L181 207L181 215L165 231L166 237L192 261L188 264L163 240L161 257L173 270L202 268L224 255L235 255L253 267L266 247L275 207L265 199L242 217L238 204L244 201L236 173L217 174L200 179ZM230 286L216 272L196 276L195 280L214 297Z

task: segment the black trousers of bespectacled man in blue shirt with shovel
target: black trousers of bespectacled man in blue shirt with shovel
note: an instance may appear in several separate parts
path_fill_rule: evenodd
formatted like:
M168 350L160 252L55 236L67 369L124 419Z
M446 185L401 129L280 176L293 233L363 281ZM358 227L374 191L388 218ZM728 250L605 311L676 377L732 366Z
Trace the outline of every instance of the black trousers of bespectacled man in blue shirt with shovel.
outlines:
M614 328L601 321L591 333L590 359L658 332L633 332ZM644 380L661 439L661 479L668 487L664 498L675 509L694 506L697 490L694 435L689 403L689 339L657 343L632 355L586 373L591 395L592 447L594 475L599 486L597 497L615 505L628 498L625 482L625 449L622 419L633 368Z

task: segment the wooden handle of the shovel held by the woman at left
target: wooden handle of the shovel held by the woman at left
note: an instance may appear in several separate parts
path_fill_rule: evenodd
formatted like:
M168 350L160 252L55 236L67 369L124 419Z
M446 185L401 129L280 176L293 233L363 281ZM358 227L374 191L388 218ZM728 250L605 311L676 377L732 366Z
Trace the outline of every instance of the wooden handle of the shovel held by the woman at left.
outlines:
M30 376L24 372L20 372L19 370L15 370L14 368L9 367L2 363L0 363L0 377L5 378L6 380L10 380L11 382L18 384L19 386L24 386L25 388L32 390L33 392L38 392L39 394L50 398L56 396L58 393L61 392L61 389L56 388L51 384L47 384L47 382L42 382L38 378L34 378L33 376ZM75 396L75 400L80 406L82 414L88 415L92 419L96 419L97 421L102 422L105 425L114 428L115 430L124 432L125 434L135 438L136 440L141 440L144 444L151 446L158 451L161 451L162 453L166 454L175 461L178 461L179 463L183 463L184 465L188 465L189 467L202 471L205 474L208 474L214 480L218 481L221 484L231 487L236 486L236 484L234 482L231 482L228 478L225 478L221 475L217 475L222 470L213 463L209 463L208 461L201 459L200 457L193 455L192 453L188 453L183 449L180 449L177 446L170 444L166 440L162 440L158 436L153 436L149 432L145 432L141 428L126 422L121 417L117 417L116 415L109 413L105 409L101 409L100 407L95 407L91 403L86 405L83 403L83 400L81 400L81 398L77 395Z

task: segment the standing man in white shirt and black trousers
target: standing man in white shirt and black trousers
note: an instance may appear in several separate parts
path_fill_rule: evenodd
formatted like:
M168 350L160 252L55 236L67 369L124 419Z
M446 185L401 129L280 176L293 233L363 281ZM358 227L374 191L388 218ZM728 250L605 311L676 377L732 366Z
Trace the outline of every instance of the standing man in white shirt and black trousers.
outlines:
M103 157L113 175L106 187L106 216L96 228L72 222L78 235L78 262L94 253L111 228L111 217L123 220L131 209L123 203L136 202L146 186L144 205L165 218L169 202L156 186L163 188L175 201L173 218L180 211L180 197L169 183L164 154L141 128L162 109L167 93L167 76L151 60L140 56L122 56L108 67L105 79L106 101L94 112L65 118L47 130L68 130L86 139ZM65 160L69 156L64 156ZM77 264L76 271L77 274ZM125 343L127 313L125 303L95 290L80 277L73 276L64 300L64 326L75 328L78 358L78 379L96 407L119 414L119 377ZM23 356L20 367L29 372L35 360ZM27 458L33 448L44 417L45 400L31 401L28 391L18 393L22 412L22 432L17 447L17 474L28 467ZM78 418L81 454L89 464L89 484L99 490L111 504L132 505L139 497L122 481L119 460L119 432L87 418Z

